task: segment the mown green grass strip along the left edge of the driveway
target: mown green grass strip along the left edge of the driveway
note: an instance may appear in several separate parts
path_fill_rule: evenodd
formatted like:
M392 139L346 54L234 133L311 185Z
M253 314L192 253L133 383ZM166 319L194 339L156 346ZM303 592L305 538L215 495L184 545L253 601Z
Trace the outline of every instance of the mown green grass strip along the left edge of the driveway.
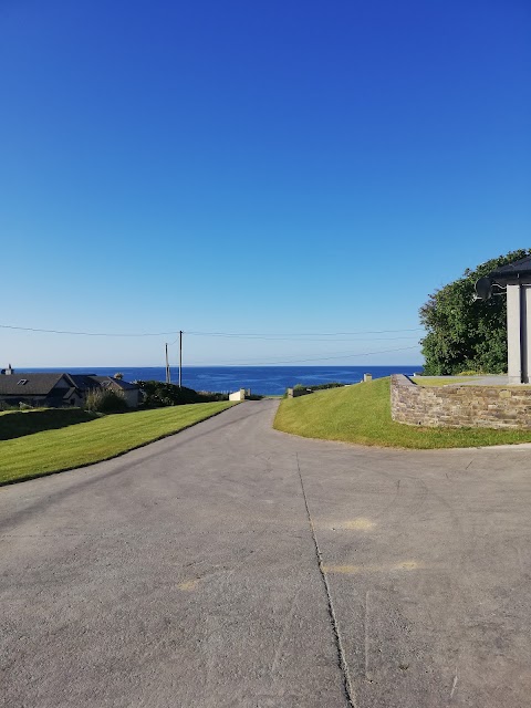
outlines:
M205 420L231 405L201 403L108 415L61 429L1 440L0 485L116 457Z

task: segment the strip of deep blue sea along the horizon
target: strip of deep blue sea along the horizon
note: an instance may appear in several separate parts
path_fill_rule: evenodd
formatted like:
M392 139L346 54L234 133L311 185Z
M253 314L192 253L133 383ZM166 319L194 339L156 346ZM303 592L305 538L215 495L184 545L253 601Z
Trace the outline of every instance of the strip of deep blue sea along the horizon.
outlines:
M122 372L124 381L165 381L164 366L113 366L70 368L27 368L27 372L69 372L71 374L96 374L113 376ZM279 395L289 386L303 384L325 384L336 381L342 384L357 384L365 373L373 378L389 374L412 375L421 371L418 364L410 366L184 366L183 386L195 391L227 393L238 388L250 388L253 394ZM178 383L177 368L171 369L171 383Z

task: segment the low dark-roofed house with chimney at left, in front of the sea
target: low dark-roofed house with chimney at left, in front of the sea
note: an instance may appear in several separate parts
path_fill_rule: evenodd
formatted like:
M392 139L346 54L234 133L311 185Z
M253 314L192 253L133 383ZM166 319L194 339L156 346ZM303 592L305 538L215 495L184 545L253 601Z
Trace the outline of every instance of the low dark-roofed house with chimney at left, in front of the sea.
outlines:
M11 367L0 369L0 402L9 405L20 403L30 406L61 408L82 406L88 392L111 388L121 392L129 408L136 408L140 400L137 384L94 374L69 373L15 373Z

